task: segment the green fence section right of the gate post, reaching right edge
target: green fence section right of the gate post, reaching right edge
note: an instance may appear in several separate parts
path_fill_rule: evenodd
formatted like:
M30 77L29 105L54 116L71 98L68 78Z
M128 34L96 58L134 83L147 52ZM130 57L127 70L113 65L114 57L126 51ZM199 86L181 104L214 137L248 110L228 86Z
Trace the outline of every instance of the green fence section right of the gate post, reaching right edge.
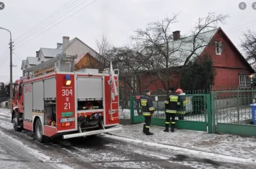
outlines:
M256 126L252 125L250 104L255 99L255 91L216 91L212 92L213 133L256 136ZM216 127L215 127L216 126Z

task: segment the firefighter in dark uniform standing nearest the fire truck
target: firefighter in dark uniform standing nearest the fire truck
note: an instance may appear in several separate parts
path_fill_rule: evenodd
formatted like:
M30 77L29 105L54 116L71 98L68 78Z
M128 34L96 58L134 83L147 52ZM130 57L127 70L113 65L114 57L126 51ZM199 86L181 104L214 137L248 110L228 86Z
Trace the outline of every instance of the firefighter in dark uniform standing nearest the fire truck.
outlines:
M143 133L146 133L146 135L153 135L153 133L149 132L150 128L150 122L152 114L154 114L155 108L153 105L153 101L150 98L150 90L145 91L145 96L142 96L140 99L142 112L145 117L145 123L143 126Z

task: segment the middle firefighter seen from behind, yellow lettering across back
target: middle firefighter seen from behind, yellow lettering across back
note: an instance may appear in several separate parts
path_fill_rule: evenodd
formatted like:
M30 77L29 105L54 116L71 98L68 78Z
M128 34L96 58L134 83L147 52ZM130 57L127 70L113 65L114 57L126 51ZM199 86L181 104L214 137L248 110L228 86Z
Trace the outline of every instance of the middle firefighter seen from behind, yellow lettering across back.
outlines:
M174 87L170 87L169 94L164 100L164 106L165 106L165 129L164 132L169 132L169 124L170 124L170 118L172 117L172 129L171 131L174 132L175 127L175 116L177 113L177 101L178 101L178 94L175 93Z

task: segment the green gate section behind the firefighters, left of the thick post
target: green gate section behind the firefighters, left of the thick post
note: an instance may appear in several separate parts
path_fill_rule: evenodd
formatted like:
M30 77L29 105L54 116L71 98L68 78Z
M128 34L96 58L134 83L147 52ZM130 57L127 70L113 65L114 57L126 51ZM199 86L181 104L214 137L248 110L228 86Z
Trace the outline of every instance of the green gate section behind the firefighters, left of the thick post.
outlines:
M186 94L186 114L184 120L176 117L175 128L208 131L212 133L210 94ZM152 126L165 126L164 99L166 95L151 96L156 112L152 117ZM130 97L131 124L144 122L141 114L140 96Z

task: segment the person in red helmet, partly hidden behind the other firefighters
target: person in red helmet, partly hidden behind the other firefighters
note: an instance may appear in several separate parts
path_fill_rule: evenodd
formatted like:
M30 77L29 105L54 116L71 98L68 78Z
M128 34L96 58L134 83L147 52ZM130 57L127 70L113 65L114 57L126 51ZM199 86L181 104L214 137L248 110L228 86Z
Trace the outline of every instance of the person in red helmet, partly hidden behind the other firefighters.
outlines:
M179 120L184 120L184 115L186 112L186 98L185 93L182 91L182 89L177 89L176 94L179 94L178 102L177 102L177 116Z

